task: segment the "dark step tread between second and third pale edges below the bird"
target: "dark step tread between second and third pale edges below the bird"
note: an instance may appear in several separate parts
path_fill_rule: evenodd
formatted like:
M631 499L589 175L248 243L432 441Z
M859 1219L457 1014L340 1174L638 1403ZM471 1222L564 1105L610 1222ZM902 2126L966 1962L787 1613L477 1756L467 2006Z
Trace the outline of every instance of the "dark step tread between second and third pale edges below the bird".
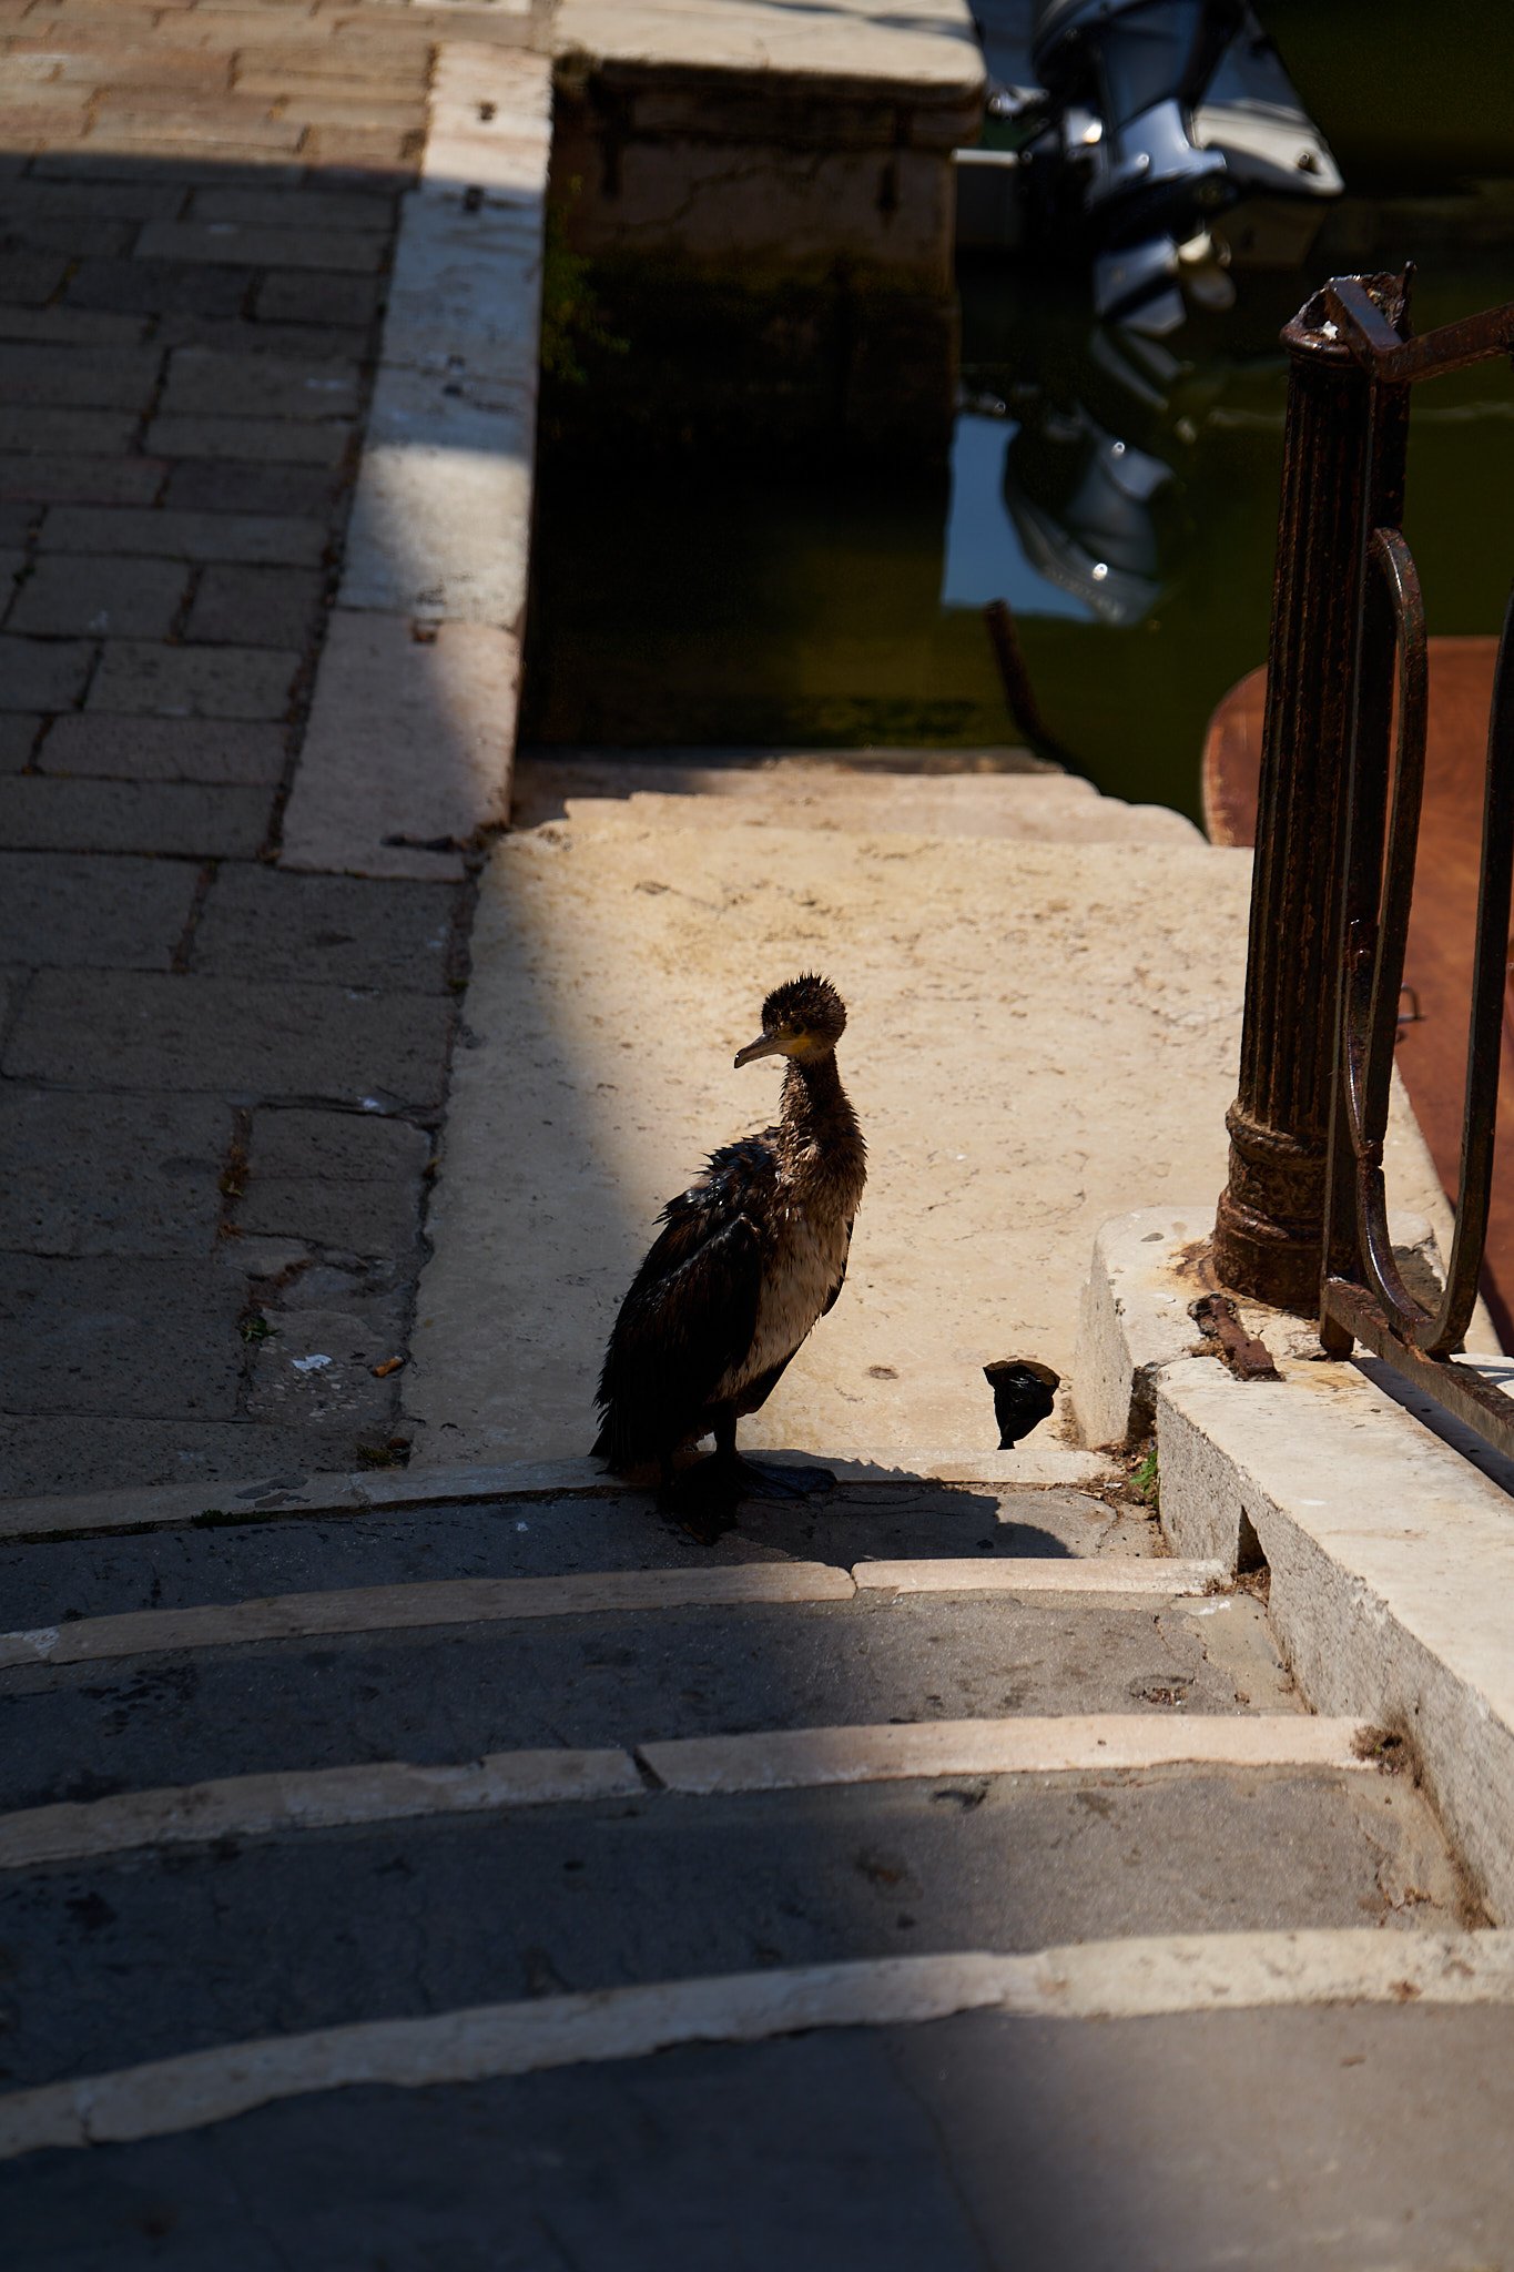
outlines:
M356 1761L747 1729L1303 1711L1251 1595L1144 1593L863 1590L327 1634L18 1670L0 1674L0 1697L5 1813Z

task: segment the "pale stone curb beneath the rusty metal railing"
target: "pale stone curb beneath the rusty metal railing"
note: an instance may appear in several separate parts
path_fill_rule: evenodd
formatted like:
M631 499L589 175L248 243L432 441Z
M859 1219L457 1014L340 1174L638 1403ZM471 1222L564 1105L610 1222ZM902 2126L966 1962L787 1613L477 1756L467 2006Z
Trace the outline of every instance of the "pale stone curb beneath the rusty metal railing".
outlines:
M1296 1347L1285 1320L1269 1327L1276 1384L1187 1354L1192 1327L1178 1304L1180 1334L1162 1300L1178 1245L1151 1238L1169 1216L1126 1216L1099 1238L1078 1356L1087 1406L1121 1368L1126 1384L1144 1372L1174 1552L1235 1570L1260 1550L1269 1615L1310 1704L1412 1745L1489 1911L1512 1918L1514 1506L1355 1365L1296 1354L1307 1327Z

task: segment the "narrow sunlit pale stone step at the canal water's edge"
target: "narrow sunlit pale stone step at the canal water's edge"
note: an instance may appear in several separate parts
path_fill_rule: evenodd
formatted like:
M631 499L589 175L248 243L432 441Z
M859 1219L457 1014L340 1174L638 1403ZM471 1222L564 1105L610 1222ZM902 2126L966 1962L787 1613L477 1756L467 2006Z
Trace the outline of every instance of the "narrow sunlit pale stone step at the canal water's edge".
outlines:
M706 813L692 802L704 800ZM536 759L515 775L515 827L552 818L692 827L713 818L863 836L999 836L1021 843L1201 843L1192 820L1164 804L1101 797L1065 772L903 772L819 757L751 766L699 766L649 757Z

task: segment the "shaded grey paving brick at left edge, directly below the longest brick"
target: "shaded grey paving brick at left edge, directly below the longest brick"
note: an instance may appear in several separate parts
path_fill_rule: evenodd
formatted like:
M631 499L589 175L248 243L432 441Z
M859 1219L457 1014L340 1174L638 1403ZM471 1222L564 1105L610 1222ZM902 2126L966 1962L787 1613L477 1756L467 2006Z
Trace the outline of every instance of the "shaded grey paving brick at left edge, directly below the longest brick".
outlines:
M0 1247L213 1254L232 1109L0 1086Z

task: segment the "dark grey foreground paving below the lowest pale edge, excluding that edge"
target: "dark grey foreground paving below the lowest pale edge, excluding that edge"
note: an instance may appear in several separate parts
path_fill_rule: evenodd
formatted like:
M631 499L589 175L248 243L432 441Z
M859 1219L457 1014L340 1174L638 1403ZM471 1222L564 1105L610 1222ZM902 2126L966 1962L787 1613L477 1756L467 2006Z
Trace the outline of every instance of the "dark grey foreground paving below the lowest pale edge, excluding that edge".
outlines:
M361 2088L32 2154L0 2213L27 2272L93 2272L102 2233L111 2272L331 2263L334 2236L406 2272L729 2272L733 2245L785 2272L1124 2272L1133 2236L1171 2272L1444 2272L1514 2229L1507 2029L1416 1999L969 2011L427 2090L375 2058Z

